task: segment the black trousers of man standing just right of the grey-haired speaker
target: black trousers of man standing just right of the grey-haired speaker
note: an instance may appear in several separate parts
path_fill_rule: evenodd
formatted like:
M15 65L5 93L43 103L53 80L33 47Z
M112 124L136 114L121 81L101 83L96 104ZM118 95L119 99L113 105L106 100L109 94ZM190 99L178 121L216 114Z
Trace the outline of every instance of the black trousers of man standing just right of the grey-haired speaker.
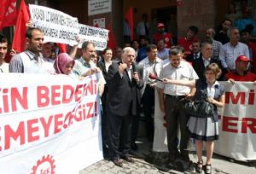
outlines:
M143 94L143 113L146 121L146 131L148 141L152 142L154 139L154 119L152 113L154 112L154 88L146 85Z

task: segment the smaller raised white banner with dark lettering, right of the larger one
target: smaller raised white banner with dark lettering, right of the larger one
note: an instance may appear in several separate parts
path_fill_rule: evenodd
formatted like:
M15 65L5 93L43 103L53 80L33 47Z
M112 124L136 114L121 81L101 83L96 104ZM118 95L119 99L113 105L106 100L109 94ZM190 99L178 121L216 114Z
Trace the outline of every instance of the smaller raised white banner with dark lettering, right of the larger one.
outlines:
M82 39L81 43L90 41L96 45L96 50L106 49L108 44L108 30L79 24L79 36ZM81 48L81 44L79 45Z

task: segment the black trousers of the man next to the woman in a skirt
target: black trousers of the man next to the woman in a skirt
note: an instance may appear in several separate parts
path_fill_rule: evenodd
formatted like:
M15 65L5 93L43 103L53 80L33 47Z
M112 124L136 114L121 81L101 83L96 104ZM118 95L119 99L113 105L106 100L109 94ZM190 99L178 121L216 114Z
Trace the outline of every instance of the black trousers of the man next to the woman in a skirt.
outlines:
M189 117L184 112L183 103L181 99L184 96L165 96L165 109L167 119L167 142L170 153L170 160L177 158L177 127L179 125L181 138L179 143L180 153L186 159L189 159L189 151L187 150L189 144L189 129L187 123Z

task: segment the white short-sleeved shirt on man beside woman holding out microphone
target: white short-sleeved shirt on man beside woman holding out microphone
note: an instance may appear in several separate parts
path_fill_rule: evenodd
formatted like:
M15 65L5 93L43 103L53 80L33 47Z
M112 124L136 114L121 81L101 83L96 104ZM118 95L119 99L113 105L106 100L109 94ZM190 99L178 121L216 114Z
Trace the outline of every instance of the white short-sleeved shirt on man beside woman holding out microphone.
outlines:
M171 61L169 61L163 65L162 71L160 72L160 79L161 78L195 80L198 79L198 76L188 62L181 61L178 67L172 67ZM164 93L171 96L184 96L191 90L188 86L164 84L162 82L158 82L157 87L164 89Z

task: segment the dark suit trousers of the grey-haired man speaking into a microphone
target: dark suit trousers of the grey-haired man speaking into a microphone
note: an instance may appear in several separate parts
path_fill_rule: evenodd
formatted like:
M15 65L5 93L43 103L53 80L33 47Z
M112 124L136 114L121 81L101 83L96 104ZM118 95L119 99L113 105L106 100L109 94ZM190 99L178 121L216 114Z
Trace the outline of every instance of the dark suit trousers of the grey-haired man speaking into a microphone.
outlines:
M131 114L125 116L108 113L108 157L119 159L131 149Z

